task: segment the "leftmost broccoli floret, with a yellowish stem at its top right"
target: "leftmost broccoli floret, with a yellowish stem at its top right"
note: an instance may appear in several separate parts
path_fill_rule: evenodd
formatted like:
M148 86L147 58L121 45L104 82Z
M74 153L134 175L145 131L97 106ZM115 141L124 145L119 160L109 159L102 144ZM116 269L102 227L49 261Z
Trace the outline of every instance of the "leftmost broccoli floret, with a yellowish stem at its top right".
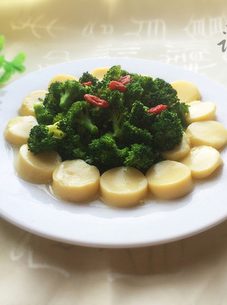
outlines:
M32 153L42 153L45 150L56 150L65 133L54 125L35 125L28 137L28 149Z

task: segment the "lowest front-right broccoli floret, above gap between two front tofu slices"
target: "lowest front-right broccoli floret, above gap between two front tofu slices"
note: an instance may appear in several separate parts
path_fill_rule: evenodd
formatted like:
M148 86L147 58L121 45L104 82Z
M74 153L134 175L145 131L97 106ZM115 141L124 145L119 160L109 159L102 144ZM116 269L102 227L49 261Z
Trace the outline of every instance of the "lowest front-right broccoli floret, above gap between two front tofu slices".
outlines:
M138 170L145 173L150 166L161 159L161 155L154 151L151 146L135 143L131 145L124 165L138 168Z

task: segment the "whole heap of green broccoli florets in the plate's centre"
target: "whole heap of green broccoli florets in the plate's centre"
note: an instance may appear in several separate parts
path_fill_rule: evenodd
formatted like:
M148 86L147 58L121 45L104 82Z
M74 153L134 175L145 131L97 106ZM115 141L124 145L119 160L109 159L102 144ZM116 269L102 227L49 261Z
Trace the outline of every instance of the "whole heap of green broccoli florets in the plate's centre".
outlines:
M124 76L126 91L109 88ZM90 103L85 94L107 101L108 107ZM156 105L167 108L149 113ZM79 81L53 82L43 105L34 109L39 125L30 131L30 151L55 149L63 160L84 159L100 171L133 166L145 173L162 159L161 152L181 143L187 127L188 105L179 103L168 82L128 73L120 65L101 81L85 72Z

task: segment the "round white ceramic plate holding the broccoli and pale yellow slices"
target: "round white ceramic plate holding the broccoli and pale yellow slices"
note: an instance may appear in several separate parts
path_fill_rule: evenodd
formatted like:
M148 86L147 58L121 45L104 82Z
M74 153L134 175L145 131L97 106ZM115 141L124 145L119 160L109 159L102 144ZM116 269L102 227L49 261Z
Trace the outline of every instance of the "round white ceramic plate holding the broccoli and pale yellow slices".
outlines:
M216 82L160 62L105 58L66 62L30 73L0 91L0 215L10 223L39 236L91 247L140 247L175 241L202 232L227 218L227 153L216 177L196 183L194 191L180 200L149 201L140 207L115 209L101 202L73 204L51 197L44 186L19 179L13 168L13 150L3 131L23 98L46 89L49 80L66 73L80 77L84 71L121 64L122 69L149 74L172 82L194 82L203 101L217 105L217 120L227 126L227 89Z

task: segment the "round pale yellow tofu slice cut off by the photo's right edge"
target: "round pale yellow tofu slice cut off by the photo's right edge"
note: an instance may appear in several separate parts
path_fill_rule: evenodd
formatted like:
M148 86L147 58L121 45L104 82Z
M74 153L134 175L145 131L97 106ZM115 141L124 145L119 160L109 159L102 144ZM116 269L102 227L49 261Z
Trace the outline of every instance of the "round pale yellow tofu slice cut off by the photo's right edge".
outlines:
M217 150L227 143L227 130L217 121L199 121L188 125L185 131L192 146L207 145Z

